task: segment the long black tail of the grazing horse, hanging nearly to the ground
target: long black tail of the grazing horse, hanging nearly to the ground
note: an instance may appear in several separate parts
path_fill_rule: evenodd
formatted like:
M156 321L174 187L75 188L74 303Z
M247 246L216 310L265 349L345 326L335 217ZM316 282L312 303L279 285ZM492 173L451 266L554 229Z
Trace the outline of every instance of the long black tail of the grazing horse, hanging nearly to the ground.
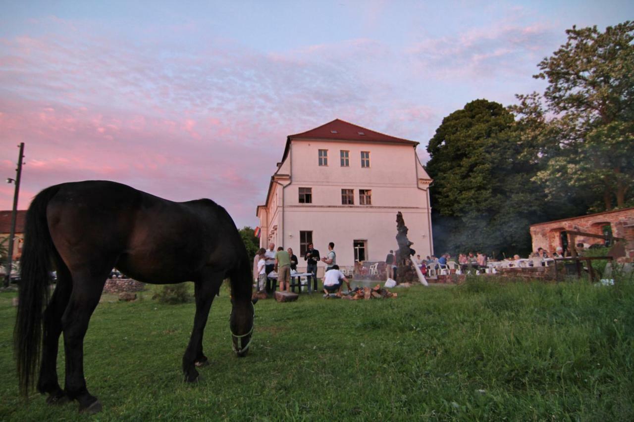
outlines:
M13 331L22 395L27 395L33 386L40 359L42 309L48 303L51 257L55 253L46 221L46 207L58 190L59 186L51 186L38 193L27 211L20 261L18 316Z

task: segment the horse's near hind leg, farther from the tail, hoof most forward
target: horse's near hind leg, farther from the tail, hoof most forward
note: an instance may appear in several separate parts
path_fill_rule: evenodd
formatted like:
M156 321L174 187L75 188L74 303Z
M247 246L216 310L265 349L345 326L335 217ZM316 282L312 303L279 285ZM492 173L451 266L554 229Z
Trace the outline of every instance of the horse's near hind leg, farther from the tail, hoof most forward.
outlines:
M68 398L77 400L82 411L101 411L101 403L86 388L84 378L84 335L94 308L99 304L101 290L112 265L107 270L73 272L70 302L61 318L66 352L66 385Z

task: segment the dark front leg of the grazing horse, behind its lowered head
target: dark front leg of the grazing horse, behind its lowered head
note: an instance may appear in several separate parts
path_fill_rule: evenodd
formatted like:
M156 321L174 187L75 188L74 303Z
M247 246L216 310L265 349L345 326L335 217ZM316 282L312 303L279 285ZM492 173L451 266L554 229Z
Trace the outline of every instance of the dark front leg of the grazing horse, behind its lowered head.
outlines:
M207 363L207 357L202 352L202 336L209 317L209 309L218 293L221 278L203 278L194 283L194 294L196 297L196 314L194 316L194 326L191 330L190 343L183 355L183 373L185 381L193 382L198 380L196 366L203 366Z

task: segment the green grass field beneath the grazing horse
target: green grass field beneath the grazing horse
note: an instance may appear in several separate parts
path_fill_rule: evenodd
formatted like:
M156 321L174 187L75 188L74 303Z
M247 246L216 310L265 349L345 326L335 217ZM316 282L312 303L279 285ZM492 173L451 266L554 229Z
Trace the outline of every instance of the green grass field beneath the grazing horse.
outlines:
M103 404L92 417L76 403L18 397L15 293L0 293L0 420L634 420L631 281L393 291L261 300L249 355L238 359L223 290L205 331L211 364L195 385L180 372L194 305L160 305L151 291L132 303L107 297L84 347L87 385Z

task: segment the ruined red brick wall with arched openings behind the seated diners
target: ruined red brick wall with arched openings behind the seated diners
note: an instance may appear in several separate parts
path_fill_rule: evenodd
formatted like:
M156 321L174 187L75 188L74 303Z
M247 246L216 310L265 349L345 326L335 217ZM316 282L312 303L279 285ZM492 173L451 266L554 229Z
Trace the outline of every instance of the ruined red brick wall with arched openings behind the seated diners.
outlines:
M624 262L634 262L634 208L624 210L600 212L598 214L583 215L567 220L549 221L531 226L531 238L533 250L537 248L555 252L561 245L560 233L564 230L581 231L585 233L603 234L604 226L612 227L612 236L625 239ZM583 242L586 245L602 243L600 239L575 236L575 242Z

